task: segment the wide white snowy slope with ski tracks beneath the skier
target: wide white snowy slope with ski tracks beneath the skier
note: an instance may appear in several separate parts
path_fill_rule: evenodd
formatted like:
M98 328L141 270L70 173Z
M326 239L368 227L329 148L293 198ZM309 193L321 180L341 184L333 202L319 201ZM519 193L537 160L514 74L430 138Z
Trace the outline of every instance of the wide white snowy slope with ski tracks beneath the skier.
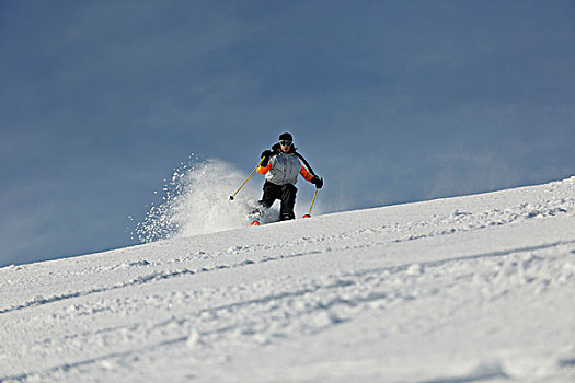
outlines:
M0 269L0 382L573 382L575 177Z

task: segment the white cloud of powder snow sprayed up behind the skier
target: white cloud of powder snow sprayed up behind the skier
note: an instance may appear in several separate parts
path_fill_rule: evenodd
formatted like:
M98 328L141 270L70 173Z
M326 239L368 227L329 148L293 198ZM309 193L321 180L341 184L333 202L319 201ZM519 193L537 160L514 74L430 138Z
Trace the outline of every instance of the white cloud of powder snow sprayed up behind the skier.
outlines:
M230 193L245 178L244 173L221 160L192 156L174 170L163 187L162 201L150 206L133 239L148 243L245 228L251 222L249 212L262 193L262 183L254 179L230 201ZM272 210L269 214L278 212Z

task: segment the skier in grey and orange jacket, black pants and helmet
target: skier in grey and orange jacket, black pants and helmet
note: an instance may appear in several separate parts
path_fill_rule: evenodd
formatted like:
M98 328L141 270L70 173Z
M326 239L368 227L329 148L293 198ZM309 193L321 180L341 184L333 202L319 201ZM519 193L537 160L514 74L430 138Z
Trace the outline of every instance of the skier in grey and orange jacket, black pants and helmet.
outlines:
M264 150L264 159L257 167L257 173L265 175L264 195L258 201L263 210L272 207L276 199L281 200L279 209L279 220L292 220L296 218L294 206L296 205L295 186L298 182L298 174L301 174L306 181L309 181L317 188L323 186L323 179L318 177L308 162L299 154L294 146L294 138L290 134L285 132L279 136L279 142L272 147L272 150ZM303 166L301 161L308 166ZM262 213L262 209L257 209Z

